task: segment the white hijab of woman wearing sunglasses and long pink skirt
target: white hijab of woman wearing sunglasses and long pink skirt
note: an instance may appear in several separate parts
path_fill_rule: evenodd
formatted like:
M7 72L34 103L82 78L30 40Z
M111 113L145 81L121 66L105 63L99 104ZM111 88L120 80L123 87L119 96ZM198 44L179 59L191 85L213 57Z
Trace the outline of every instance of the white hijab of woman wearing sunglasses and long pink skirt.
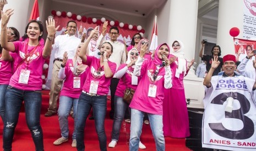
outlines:
M174 51L173 48L171 48L170 53L176 57L178 57L178 69L176 70L177 73L181 74L184 71L184 74L186 74L187 71L187 61L184 59L184 44L181 42L181 40L175 40L179 43L179 50ZM177 76L177 78L179 78Z

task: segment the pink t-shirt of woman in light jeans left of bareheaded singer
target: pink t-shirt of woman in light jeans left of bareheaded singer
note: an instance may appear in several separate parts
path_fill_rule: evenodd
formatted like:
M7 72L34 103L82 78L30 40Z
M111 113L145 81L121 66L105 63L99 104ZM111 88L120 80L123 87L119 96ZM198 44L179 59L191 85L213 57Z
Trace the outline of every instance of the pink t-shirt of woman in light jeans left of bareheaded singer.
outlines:
M73 60L72 59L68 59L66 66L65 66L65 75L66 75L66 79L64 81L63 84L63 88L61 90L61 94L60 96L68 96L68 97L72 97L72 98L79 98L81 92L82 92L82 88L85 82L85 79L87 77L88 74L88 67L85 69L85 71L83 71L81 74L79 75L75 75L73 73ZM80 78L80 88L74 88L74 77L78 77Z

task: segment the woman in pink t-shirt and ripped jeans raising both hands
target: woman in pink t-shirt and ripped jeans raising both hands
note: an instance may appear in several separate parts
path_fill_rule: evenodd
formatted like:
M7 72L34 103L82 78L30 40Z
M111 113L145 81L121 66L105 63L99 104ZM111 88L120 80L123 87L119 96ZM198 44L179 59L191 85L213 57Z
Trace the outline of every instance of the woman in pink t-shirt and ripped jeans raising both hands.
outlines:
M25 104L26 123L31 132L36 150L43 150L43 136L40 125L42 67L43 62L51 55L52 38L57 31L55 21L46 21L47 40L45 46L39 43L43 35L40 21L31 20L25 28L28 42L8 42L7 23L13 15L13 9L7 9L2 14L1 45L7 51L17 53L17 69L10 78L6 91L6 118L3 130L3 149L11 150L15 127L18 123L21 104Z

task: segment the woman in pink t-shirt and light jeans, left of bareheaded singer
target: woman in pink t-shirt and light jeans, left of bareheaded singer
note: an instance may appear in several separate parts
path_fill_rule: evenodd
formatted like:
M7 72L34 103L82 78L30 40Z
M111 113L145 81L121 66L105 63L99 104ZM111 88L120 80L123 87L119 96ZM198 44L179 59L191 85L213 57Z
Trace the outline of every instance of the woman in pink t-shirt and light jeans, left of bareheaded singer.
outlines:
M68 115L73 107L74 117L77 115L78 98L81 94L82 87L84 85L86 76L88 74L88 66L83 65L81 58L78 53L81 46L84 43L78 45L77 51L73 59L68 59L67 51L63 55L63 62L59 69L58 78L65 79L63 88L59 96L59 108L58 108L58 119L59 127L61 128L61 138L58 138L53 144L59 145L63 142L68 141ZM74 118L74 127L77 123ZM76 131L74 128L72 135L72 147L77 147Z

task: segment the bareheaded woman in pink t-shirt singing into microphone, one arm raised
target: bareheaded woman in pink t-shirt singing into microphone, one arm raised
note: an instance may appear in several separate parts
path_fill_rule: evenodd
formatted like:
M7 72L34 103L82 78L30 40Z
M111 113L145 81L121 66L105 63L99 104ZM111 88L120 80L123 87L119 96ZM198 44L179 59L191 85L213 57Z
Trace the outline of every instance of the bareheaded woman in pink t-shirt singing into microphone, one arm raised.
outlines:
M101 57L86 55L88 44L93 35L99 34L98 27L91 31L90 36L81 47L79 56L83 63L88 65L89 72L86 77L83 91L79 97L77 112L77 149L84 150L84 128L86 118L90 109L94 113L95 127L100 142L100 150L107 150L107 137L104 127L104 120L107 111L107 94L113 74L116 72L116 63L108 61L108 57L113 53L110 43L103 43L100 47Z

